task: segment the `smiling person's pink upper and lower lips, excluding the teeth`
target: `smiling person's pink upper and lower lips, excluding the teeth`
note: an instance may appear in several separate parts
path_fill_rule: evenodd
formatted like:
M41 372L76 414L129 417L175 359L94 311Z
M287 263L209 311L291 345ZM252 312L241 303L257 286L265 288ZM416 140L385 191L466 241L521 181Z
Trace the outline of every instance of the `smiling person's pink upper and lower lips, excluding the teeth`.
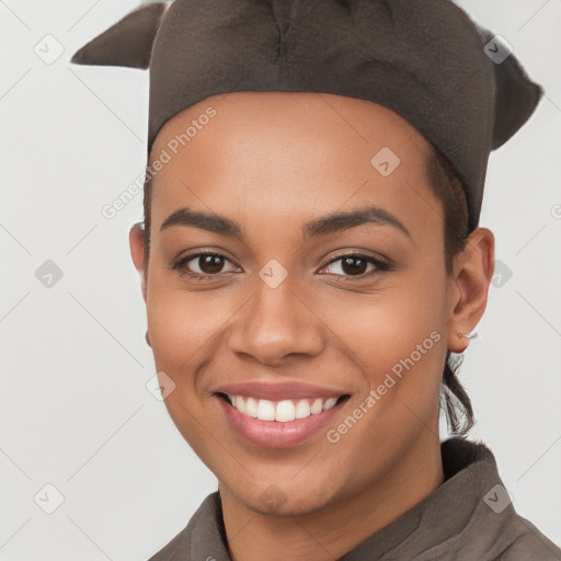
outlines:
M268 399L271 401L306 398L329 399L348 396L348 393L305 383L238 382L218 388L215 398L218 400L230 426L249 443L266 448L289 448L308 440L328 425L348 400L348 398L344 398L327 411L283 423L279 421L262 421L244 415L220 393Z

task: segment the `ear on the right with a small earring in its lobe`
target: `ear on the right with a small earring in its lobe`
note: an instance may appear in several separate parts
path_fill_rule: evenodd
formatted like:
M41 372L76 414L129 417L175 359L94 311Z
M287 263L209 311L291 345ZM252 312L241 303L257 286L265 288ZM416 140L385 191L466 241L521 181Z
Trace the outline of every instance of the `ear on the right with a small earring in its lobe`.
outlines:
M468 340L459 337L458 333L470 333L485 311L494 262L493 232L477 228L469 236L466 249L456 255L449 279L447 342L454 353L462 353L467 348Z

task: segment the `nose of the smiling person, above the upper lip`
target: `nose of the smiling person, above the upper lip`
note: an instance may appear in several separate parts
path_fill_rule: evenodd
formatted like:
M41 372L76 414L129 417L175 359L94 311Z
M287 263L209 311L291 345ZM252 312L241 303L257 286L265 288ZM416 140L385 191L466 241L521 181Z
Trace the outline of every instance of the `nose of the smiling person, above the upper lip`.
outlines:
M261 364L279 366L289 355L317 356L325 336L318 311L288 282L256 288L230 330L229 350ZM309 298L308 298L309 300Z

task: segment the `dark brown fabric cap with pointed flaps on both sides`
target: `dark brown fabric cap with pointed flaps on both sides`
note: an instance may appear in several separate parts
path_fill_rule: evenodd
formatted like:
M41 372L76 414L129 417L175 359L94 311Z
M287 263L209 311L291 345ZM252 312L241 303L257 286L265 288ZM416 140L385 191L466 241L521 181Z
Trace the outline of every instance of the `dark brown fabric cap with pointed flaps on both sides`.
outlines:
M491 150L542 94L503 50L449 0L175 0L134 10L72 62L149 64L148 153L168 119L214 94L311 91L385 105L448 158L471 231Z

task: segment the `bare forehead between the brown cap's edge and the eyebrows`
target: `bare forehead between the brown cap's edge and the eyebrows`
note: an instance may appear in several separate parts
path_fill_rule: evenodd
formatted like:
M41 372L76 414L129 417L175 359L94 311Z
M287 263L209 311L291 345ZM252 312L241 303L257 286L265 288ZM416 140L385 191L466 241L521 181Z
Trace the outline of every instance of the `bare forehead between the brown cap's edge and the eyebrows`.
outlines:
M366 100L276 91L215 95L172 117L156 139L150 162L167 163L153 180L152 224L190 207L253 215L263 228L272 216L306 221L371 203L414 228L415 220L439 218L427 185L427 151L410 123ZM420 205L422 197L433 199L433 210Z

